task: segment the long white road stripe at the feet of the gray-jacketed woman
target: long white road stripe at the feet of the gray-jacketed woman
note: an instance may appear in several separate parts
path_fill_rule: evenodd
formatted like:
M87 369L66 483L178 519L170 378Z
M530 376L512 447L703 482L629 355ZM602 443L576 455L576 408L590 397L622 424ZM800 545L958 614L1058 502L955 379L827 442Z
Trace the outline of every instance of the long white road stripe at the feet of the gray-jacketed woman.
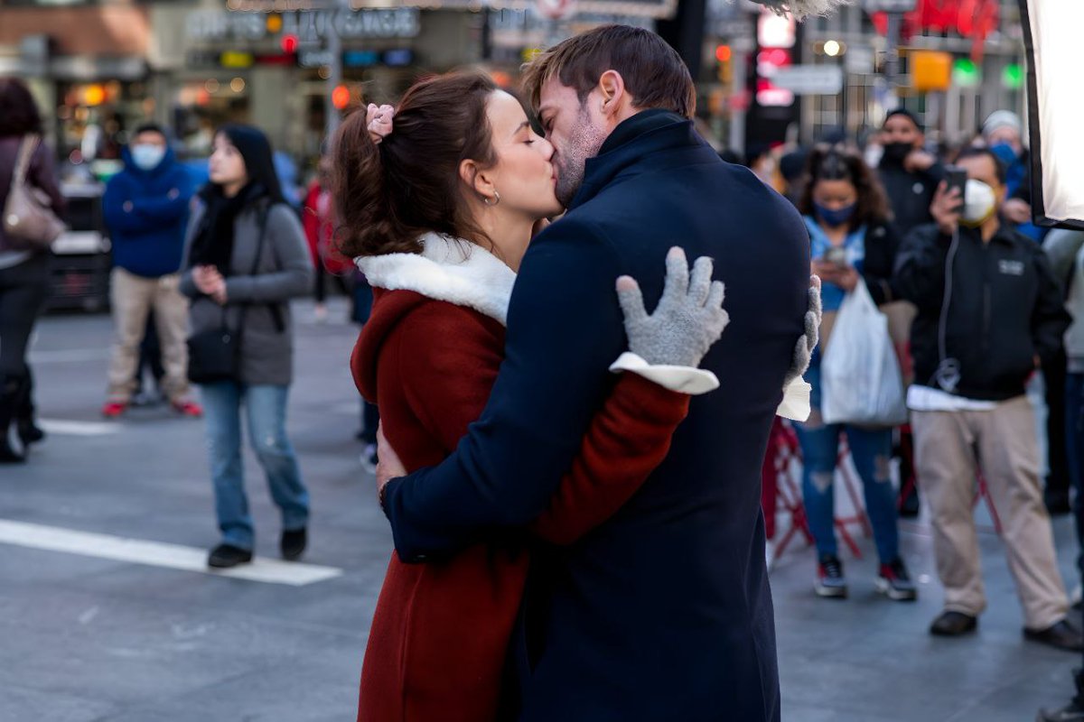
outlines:
M255 556L250 564L232 569L212 570L207 566L205 549L10 520L0 520L0 543L291 587L304 587L343 575L343 569L331 566L262 556Z

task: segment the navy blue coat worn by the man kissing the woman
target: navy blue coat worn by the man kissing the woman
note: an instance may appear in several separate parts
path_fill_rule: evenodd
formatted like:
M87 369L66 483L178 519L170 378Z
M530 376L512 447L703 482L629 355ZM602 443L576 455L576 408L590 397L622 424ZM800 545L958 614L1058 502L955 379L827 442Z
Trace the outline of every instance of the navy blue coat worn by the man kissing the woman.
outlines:
M691 122L641 113L588 161L568 214L524 259L485 413L439 467L392 481L385 511L408 562L537 516L625 350L615 279L637 278L653 309L671 246L714 258L726 284L731 324L704 360L722 385L693 399L622 510L535 556L521 720L779 719L760 468L802 332L809 235Z

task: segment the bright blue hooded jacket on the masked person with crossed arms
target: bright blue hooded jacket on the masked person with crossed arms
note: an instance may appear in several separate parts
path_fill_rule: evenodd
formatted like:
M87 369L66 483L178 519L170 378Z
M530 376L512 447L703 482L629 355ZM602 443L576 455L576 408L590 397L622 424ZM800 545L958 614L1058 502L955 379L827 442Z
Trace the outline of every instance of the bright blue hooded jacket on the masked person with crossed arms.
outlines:
M128 148L124 159L125 169L109 179L102 198L113 263L144 278L177 273L195 194L192 174L172 149L149 171L132 162Z

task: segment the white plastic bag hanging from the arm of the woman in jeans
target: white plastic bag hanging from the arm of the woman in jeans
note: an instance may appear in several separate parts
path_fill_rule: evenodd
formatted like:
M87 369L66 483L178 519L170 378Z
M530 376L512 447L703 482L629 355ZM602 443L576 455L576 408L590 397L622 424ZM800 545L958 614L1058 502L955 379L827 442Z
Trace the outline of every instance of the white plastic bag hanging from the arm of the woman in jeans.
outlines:
M821 415L825 423L866 426L894 426L907 420L888 318L861 279L839 307L821 363Z

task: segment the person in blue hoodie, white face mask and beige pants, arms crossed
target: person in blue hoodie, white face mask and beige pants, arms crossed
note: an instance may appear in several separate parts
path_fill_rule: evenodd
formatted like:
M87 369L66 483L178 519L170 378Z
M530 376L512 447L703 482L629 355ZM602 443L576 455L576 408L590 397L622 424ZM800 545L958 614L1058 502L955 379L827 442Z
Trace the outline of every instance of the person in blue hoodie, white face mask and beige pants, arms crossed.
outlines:
M162 391L178 413L199 417L203 409L188 380L189 303L178 288L194 183L159 126L137 128L124 159L125 169L109 179L102 200L113 242L116 328L102 415L117 418L131 405L140 344L153 313L165 368Z

